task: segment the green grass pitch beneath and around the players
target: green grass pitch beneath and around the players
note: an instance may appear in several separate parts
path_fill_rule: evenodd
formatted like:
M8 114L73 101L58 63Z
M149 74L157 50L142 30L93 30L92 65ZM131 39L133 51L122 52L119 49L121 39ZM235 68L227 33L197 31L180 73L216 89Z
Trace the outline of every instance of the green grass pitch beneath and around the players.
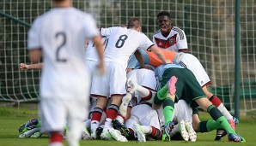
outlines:
M119 143L115 141L101 141L101 140L82 140L81 146L83 145L96 145L96 146L164 146L164 145L207 145L207 146L222 146L222 145L256 145L255 131L256 131L256 118L255 111L249 112L243 117L241 117L241 122L237 126L237 131L242 137L246 138L247 143L230 143L228 138L224 137L222 142L213 141L216 131L211 131L208 133L198 133L197 142L192 143L185 141L148 141L147 143L138 143L136 141L131 141L128 143ZM18 138L18 128L22 123L31 119L32 117L39 118L37 114L37 107L30 104L21 104L19 108L17 107L0 107L0 145L1 146L45 146L48 143L47 136L40 138ZM209 115L205 113L200 113L201 120L209 119ZM67 144L65 144L67 145Z

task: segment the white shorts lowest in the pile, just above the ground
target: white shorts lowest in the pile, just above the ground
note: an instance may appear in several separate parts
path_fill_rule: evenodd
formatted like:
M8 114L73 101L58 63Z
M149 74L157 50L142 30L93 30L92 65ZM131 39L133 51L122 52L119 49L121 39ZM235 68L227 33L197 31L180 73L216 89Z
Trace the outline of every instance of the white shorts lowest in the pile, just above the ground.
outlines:
M160 129L158 114L148 104L139 104L131 108L131 117L125 121L125 126L131 128L135 123L141 126L155 126Z

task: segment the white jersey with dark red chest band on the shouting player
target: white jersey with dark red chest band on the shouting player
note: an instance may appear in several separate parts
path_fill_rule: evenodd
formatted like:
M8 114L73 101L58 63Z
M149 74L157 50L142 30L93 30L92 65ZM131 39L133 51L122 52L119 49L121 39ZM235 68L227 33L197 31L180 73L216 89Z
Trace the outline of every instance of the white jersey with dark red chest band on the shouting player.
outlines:
M177 26L173 26L168 37L163 37L159 30L153 35L153 43L163 50L179 50L187 49L186 34Z

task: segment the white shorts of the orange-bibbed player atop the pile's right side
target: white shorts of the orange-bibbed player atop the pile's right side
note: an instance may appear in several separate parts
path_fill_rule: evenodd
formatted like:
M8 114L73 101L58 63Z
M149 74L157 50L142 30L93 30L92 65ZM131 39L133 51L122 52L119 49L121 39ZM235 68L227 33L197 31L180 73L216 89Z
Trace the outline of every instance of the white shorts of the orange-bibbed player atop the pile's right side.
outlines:
M191 54L183 54L178 61L182 67L186 67L187 69L191 70L196 79L198 80L199 85L202 87L204 85L210 84L210 78L208 74L205 72L204 67L198 61L198 58Z

